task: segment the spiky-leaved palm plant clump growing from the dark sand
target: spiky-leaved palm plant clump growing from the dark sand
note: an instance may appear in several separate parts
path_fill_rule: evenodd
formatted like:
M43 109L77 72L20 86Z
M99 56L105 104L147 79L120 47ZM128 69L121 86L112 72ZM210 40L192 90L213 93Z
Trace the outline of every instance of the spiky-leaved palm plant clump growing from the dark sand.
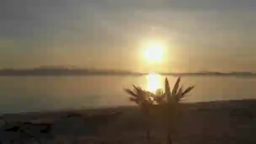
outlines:
M130 101L135 102L139 105L144 117L149 120L151 113L156 112L157 115L161 115L160 119L164 122L165 127L168 128L167 140L171 144L171 129L175 125L175 120L178 112L178 104L180 101L184 100L187 93L189 93L194 86L187 88L183 91L182 87L179 87L180 77L176 81L172 91L169 85L169 81L165 78L165 92L157 90L157 93L151 93L149 91L144 91L139 87L135 88L136 92L134 93L130 89L125 88L125 92L130 94L132 97L129 97ZM149 139L150 131L147 130L147 138Z

